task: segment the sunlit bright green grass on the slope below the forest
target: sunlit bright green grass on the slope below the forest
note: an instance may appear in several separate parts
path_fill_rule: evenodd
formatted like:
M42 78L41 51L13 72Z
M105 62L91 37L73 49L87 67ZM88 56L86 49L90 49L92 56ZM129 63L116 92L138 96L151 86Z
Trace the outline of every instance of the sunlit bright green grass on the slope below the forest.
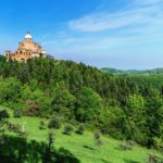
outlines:
M10 112L11 113L11 112ZM24 124L28 139L47 141L48 129L39 129L39 117L10 117L10 122ZM135 146L130 151L122 151L118 147L122 141L102 137L104 145L97 147L93 133L85 131L84 135L73 133L71 136L63 134L63 128L55 130L54 147L64 147L70 150L82 163L146 163L151 150Z

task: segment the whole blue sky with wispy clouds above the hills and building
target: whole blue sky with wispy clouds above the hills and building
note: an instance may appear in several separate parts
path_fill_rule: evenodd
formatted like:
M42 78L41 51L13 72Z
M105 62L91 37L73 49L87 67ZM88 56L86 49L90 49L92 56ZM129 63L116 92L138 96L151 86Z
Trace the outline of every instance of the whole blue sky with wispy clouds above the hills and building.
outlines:
M163 0L0 1L0 53L30 30L57 59L98 67L163 67Z

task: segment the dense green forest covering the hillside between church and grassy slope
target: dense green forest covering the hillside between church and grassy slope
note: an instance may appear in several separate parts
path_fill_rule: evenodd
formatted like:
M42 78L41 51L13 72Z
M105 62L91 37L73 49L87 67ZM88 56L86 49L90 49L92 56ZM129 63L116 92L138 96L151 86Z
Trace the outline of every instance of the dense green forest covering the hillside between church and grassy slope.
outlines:
M0 55L0 105L163 147L162 75L113 75L50 57L17 63Z

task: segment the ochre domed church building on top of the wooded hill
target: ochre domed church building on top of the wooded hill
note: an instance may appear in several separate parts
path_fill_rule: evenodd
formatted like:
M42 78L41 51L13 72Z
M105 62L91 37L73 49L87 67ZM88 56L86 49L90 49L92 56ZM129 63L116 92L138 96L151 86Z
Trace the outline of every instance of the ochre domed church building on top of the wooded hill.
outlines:
M24 41L20 42L20 47L16 52L5 51L8 61L26 62L27 60L35 58L45 58L47 52L42 47L33 41L33 37L29 33L25 35Z

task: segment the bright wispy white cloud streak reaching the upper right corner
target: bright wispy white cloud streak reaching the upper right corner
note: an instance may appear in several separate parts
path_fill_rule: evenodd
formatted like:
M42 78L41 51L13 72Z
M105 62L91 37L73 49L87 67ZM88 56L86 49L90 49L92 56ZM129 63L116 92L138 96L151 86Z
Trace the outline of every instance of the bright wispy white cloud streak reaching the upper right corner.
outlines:
M131 9L114 13L92 13L71 21L68 26L79 32L103 32L126 26L153 25L163 17L160 3L160 0L135 0Z

